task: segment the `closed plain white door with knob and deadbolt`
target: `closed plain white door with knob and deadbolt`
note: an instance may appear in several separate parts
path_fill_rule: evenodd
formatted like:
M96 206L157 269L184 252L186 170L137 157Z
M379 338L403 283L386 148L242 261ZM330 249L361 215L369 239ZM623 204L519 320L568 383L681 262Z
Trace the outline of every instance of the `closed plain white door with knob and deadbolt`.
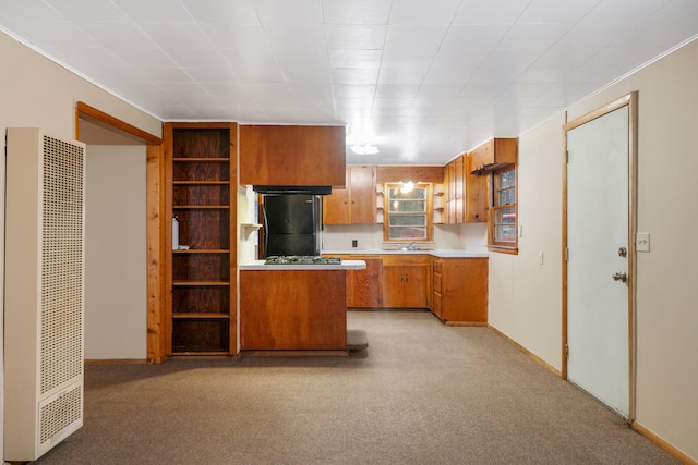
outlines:
M567 131L567 379L630 413L629 108Z

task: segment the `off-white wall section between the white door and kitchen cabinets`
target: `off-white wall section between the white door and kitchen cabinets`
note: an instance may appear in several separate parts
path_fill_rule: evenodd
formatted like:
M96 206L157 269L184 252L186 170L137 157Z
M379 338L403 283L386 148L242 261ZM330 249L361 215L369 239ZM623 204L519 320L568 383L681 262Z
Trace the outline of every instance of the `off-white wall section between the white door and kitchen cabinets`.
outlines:
M519 136L519 254L490 254L489 322L562 369L562 125L558 114ZM538 253L543 253L543 265Z

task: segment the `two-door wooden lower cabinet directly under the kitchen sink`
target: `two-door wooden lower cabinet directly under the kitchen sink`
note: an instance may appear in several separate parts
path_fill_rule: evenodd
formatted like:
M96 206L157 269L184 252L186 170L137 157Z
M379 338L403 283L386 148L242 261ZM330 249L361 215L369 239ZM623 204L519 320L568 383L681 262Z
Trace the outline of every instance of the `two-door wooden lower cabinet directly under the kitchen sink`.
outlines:
M383 257L383 307L429 308L429 255Z

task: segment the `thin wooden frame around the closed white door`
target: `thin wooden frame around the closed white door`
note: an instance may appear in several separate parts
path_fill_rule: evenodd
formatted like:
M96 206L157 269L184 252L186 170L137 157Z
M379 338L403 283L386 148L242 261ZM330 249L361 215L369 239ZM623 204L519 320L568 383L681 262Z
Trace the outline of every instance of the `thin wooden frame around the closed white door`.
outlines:
M567 133L590 121L611 113L619 108L628 107L628 355L629 355L629 397L628 420L635 420L636 372L637 372L637 341L635 334L635 313L637 308L637 291L635 277L637 276L637 260L635 249L635 234L637 232L637 142L638 142L638 91L631 91L616 100L597 108L563 125L563 328L562 328L562 378L567 379Z

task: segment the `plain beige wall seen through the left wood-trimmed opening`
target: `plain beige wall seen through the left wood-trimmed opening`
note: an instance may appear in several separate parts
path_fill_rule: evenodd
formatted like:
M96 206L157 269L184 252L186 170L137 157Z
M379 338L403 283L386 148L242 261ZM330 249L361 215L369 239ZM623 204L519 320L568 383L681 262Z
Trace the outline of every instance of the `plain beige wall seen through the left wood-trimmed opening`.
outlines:
M87 147L85 358L146 359L145 146Z

